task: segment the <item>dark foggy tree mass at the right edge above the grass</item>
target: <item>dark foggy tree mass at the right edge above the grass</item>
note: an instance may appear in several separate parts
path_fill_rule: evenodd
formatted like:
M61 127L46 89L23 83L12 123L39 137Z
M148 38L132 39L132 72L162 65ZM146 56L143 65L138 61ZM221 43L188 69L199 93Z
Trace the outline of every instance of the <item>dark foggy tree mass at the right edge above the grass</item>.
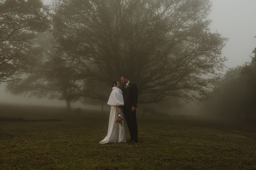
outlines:
M230 68L220 81L219 91L205 103L209 112L223 117L255 118L256 72L254 63Z

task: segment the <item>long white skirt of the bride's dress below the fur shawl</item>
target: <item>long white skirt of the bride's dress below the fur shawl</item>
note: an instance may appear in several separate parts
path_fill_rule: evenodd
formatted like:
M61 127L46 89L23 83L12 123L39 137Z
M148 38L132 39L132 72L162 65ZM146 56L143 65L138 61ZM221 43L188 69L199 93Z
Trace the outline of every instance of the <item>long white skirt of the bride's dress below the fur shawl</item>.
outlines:
M124 120L124 112L122 106L119 106L121 118ZM108 122L108 134L107 136L99 142L99 144L105 143L116 143L116 142L126 142L126 132L124 123L121 125L116 124L115 120L118 116L118 111L115 106L111 106L109 122Z

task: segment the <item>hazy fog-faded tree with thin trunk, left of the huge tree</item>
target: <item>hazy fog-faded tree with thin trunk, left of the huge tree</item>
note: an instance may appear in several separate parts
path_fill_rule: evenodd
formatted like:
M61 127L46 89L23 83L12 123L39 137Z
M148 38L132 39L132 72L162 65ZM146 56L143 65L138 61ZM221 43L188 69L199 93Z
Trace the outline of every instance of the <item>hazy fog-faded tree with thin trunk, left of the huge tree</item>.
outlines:
M79 100L81 93L73 86L77 79L71 64L58 55L51 38L49 32L37 34L34 42L38 48L27 56L26 74L15 76L18 80L8 82L6 90L15 95L65 100L70 110L70 102Z

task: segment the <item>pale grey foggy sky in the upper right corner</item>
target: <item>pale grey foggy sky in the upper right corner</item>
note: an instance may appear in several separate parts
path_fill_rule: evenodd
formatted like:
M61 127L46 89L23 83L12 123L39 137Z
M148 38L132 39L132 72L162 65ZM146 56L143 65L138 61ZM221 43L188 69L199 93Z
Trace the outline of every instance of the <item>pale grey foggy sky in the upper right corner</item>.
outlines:
M256 1L213 0L213 9L209 16L213 20L212 31L218 30L224 37L229 38L222 50L222 55L228 58L226 67L236 67L250 61L249 55L255 48L256 36L253 16Z

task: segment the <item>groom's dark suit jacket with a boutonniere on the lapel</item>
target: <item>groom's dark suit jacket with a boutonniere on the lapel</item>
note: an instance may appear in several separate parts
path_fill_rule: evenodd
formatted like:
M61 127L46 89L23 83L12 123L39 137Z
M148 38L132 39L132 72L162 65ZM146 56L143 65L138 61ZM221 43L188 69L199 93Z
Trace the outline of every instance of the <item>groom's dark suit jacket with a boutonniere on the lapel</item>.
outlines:
M124 97L124 107L132 109L132 106L137 107L138 88L135 83L129 82L128 87L122 87Z

